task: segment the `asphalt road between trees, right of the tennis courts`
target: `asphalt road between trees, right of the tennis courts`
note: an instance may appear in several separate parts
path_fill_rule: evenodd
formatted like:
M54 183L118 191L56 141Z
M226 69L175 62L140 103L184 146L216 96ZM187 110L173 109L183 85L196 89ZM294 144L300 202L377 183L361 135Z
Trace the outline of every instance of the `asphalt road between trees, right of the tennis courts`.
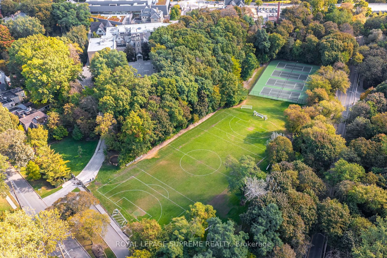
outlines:
M342 112L342 122L337 127L337 133L342 135L344 138L346 134L346 119L350 113L349 109L356 101L360 99L360 94L364 92L362 83L360 81L360 73L354 67L350 67L349 70L349 80L351 82L351 86L346 93L336 91L337 99L341 101L341 104L345 108L345 110Z

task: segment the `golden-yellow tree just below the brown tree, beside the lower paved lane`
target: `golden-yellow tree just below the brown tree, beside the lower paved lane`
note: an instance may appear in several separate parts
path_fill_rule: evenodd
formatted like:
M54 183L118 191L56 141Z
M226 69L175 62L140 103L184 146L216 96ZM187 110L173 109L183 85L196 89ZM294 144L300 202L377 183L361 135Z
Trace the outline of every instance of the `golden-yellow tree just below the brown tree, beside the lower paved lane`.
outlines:
M110 223L107 214L100 214L96 210L87 209L68 218L70 225L74 228L75 234L83 239L89 239L93 244L93 237L96 234L104 237Z

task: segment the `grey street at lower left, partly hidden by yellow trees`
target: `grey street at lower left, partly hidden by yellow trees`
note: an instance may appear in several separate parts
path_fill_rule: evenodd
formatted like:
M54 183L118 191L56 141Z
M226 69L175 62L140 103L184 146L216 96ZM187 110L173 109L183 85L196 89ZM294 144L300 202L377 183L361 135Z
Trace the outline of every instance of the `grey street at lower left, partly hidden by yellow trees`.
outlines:
M12 195L14 195L15 199L19 201L21 207L26 211L27 214L34 215L35 212L38 213L48 207L46 203L40 198L40 196L34 191L34 189L29 185L29 183L19 173L17 173L14 167L7 169L6 173L8 174L9 179L12 179L16 185L14 186L16 190L14 193L10 180L5 180L10 187ZM19 189L20 193L17 191L16 187ZM90 257L85 249L83 249L83 247L75 239L68 238L63 241L63 244L65 244L68 253L72 258ZM58 257L62 257L60 252L54 253Z

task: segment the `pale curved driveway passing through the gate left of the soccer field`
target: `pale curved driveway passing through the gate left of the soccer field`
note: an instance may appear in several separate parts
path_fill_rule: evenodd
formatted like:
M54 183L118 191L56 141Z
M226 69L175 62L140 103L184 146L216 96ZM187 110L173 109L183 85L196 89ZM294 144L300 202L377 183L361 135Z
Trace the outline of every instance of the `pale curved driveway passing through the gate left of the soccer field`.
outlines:
M77 178L85 185L90 181L90 179L96 178L98 171L101 168L102 163L105 159L103 154L104 147L104 141L99 140L94 155L91 157L89 163L87 163L85 168L77 176ZM43 198L43 200L45 201L45 203L47 203L48 206L51 206L56 200L61 197L64 197L78 186L79 185L77 185L77 182L74 179L71 179L62 185L62 189Z

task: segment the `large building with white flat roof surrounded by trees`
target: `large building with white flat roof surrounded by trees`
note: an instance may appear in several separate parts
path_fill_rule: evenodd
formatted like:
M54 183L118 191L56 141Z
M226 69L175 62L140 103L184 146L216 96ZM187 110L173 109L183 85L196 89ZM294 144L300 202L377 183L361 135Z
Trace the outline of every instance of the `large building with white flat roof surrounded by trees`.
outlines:
M149 41L152 32L161 26L168 26L169 23L155 22L143 24L128 24L106 28L106 34L101 38L89 39L87 55L89 60L96 51L104 48L124 51L127 46L132 47L137 60L143 59L142 44Z

